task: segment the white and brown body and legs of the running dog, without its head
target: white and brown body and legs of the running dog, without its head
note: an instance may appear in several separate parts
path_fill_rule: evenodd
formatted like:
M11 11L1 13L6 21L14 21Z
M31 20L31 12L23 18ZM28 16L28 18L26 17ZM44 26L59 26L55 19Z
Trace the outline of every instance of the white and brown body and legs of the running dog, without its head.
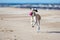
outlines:
M32 27L34 27L35 25L37 25L38 30L40 30L40 20L41 20L41 16L39 14L36 14L35 11L32 12Z

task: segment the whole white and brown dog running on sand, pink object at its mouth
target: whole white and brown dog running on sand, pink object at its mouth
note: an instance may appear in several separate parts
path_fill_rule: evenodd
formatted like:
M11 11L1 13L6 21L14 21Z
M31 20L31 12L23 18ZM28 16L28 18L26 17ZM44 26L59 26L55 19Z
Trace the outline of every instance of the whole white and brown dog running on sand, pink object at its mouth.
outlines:
M31 12L30 12L30 16L31 16L31 24L32 24L32 27L34 28L35 25L37 25L37 28L38 30L37 31L40 31L40 20L41 20L41 16L39 14L36 14L36 12L38 12L37 9L33 9Z

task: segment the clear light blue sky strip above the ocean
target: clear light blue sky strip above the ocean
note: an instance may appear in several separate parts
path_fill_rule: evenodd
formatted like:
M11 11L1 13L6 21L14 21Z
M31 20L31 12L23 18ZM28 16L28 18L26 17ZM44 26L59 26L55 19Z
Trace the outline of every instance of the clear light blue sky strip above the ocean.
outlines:
M60 3L60 0L0 0L0 3Z

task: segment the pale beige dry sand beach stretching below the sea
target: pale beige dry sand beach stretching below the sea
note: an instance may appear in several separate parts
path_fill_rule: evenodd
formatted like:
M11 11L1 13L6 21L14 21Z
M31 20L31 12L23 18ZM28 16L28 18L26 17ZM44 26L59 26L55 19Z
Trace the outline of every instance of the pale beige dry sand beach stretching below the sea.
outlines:
M41 30L31 27L30 9L0 7L0 40L60 40L60 10L41 10Z

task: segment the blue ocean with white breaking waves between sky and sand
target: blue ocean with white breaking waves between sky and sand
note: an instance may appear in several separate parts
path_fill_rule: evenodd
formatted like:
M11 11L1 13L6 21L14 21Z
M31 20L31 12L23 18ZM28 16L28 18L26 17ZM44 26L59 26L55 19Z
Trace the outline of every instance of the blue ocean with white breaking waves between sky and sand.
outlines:
M57 10L60 10L60 4L57 4L57 3L0 3L0 7L57 9Z

